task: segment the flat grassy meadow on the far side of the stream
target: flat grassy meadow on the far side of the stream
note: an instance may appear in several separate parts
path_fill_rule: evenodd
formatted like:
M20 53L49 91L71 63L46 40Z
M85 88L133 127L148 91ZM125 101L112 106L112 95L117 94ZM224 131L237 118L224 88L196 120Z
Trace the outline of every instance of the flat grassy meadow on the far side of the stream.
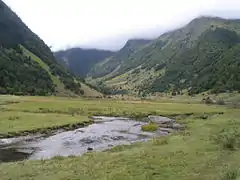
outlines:
M224 113L226 108L175 101L117 101L58 97L0 96L0 136L12 137L75 127L89 121L89 116L151 115L176 117ZM78 127L78 126L76 126Z

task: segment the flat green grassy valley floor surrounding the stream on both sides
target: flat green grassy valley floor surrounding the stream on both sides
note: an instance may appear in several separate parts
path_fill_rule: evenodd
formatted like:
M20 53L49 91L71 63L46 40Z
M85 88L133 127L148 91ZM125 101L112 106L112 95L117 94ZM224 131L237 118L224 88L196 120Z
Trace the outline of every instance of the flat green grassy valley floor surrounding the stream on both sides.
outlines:
M0 165L0 179L226 179L240 177L240 111L176 101L113 101L56 97L0 98L0 132L87 122L91 115L177 118L185 131L82 157ZM24 134L24 133L23 133Z

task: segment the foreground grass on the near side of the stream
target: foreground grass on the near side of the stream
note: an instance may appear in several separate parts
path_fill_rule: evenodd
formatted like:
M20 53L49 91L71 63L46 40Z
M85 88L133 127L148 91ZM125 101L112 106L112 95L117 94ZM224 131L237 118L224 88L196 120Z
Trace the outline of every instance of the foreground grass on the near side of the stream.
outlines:
M83 157L1 164L1 180L237 180L240 151L225 149L212 137L238 117L231 111L209 120L188 118L185 132Z

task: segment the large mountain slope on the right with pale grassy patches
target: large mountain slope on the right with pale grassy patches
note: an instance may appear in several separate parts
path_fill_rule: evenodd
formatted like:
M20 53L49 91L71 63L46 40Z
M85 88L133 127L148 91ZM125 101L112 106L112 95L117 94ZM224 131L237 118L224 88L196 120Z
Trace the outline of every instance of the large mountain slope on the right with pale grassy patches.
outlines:
M135 94L239 90L239 34L240 20L200 17L130 53L118 62L125 68L94 81Z

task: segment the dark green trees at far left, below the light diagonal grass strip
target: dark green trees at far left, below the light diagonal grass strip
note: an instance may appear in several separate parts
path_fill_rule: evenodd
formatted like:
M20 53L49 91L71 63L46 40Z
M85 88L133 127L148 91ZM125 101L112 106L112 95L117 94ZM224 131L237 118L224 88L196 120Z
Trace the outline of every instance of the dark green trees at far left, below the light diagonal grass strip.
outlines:
M38 63L0 48L0 94L47 95L54 90L49 74Z

